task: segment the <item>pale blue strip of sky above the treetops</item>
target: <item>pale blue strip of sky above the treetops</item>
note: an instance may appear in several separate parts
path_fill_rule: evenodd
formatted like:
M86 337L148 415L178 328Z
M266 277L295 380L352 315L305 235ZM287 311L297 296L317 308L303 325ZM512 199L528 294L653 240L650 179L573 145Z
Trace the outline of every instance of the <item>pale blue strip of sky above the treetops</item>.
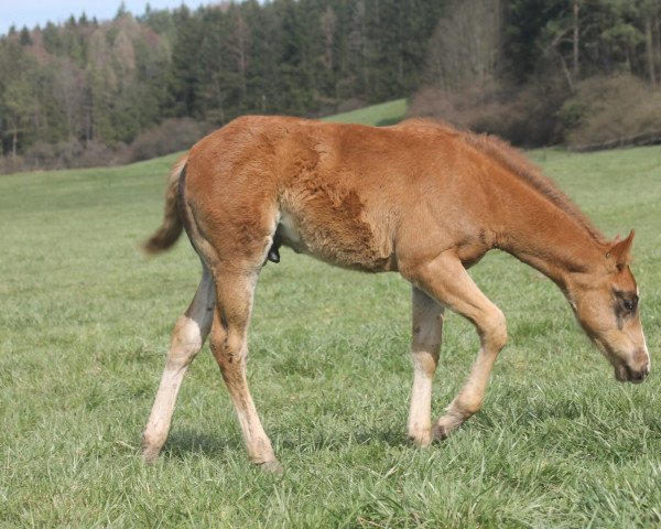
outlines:
M189 8L214 3L209 0L124 0L128 11L133 14L144 13L150 4L152 9L172 9L185 3ZM80 17L83 12L88 19L109 20L115 17L121 0L0 0L0 34L6 34L13 24L17 29L26 25L32 29L36 24L42 28L47 21L65 22L69 15Z

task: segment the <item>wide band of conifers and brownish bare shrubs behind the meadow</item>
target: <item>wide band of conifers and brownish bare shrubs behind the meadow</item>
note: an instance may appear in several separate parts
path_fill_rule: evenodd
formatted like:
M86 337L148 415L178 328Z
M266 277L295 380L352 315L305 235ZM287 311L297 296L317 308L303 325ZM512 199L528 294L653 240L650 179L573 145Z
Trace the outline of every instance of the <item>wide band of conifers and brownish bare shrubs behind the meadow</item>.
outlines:
M12 28L0 171L143 160L243 114L401 97L524 147L661 134L661 0L249 0Z

